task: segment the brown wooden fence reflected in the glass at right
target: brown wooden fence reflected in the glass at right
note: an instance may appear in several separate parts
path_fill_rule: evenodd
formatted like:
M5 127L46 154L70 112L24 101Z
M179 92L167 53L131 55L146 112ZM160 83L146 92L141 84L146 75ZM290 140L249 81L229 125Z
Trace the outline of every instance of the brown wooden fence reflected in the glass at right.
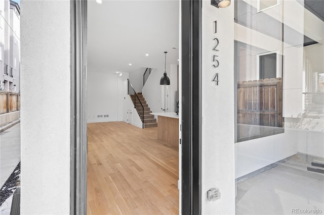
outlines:
M282 79L238 82L237 123L282 127Z

